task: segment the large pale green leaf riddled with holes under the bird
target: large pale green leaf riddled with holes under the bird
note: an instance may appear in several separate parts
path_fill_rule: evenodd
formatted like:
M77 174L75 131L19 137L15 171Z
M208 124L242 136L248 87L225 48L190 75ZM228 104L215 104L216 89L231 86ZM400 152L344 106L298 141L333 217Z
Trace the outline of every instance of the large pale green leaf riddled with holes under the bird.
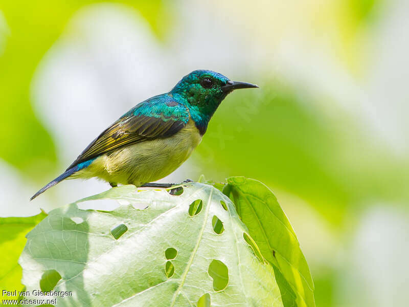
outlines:
M230 199L200 183L181 190L172 195L123 186L84 199L120 200L114 211L77 204L51 211L27 235L19 259L27 291L55 270L61 279L53 290L73 292L58 297L58 306L282 306L274 269L247 244ZM195 206L191 216L196 200L201 209ZM220 234L213 216L223 223ZM120 225L127 231L115 238L112 229L124 229Z

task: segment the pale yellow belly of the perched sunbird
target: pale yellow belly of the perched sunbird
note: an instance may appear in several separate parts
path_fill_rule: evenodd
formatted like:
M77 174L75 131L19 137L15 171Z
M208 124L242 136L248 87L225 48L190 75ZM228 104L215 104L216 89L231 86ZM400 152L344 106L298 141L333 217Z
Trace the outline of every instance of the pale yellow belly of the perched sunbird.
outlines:
M137 143L102 155L75 177L98 177L110 183L140 186L168 176L189 158L200 141L199 131L190 120L172 137Z

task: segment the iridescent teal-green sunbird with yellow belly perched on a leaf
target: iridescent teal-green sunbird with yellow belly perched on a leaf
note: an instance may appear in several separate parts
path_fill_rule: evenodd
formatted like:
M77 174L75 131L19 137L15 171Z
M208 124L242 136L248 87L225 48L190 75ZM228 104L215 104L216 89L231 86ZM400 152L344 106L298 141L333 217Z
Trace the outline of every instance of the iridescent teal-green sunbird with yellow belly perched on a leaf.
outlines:
M142 101L102 131L30 200L64 179L97 177L112 187L170 187L151 181L166 177L189 158L228 94L252 87L258 86L210 70L191 72L170 92Z

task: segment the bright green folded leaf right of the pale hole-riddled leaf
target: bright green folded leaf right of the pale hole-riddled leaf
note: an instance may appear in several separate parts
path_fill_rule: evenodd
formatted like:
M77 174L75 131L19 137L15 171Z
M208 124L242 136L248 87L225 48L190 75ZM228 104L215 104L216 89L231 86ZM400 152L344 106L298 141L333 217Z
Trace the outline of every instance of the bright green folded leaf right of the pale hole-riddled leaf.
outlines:
M262 256L275 267L284 306L315 306L307 261L274 193L254 179L231 177L227 182L223 192L234 202Z

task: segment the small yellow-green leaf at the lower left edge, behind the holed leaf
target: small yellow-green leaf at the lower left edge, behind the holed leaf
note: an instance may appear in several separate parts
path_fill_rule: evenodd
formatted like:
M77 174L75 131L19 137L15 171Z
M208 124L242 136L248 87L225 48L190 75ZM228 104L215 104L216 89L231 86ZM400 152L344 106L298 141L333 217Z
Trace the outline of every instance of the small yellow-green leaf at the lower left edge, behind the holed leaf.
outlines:
M0 300L17 299L18 291L23 290L21 284L21 267L17 264L18 257L26 245L26 234L37 225L47 214L41 212L29 217L0 217ZM3 290L17 291L14 296L3 296Z

